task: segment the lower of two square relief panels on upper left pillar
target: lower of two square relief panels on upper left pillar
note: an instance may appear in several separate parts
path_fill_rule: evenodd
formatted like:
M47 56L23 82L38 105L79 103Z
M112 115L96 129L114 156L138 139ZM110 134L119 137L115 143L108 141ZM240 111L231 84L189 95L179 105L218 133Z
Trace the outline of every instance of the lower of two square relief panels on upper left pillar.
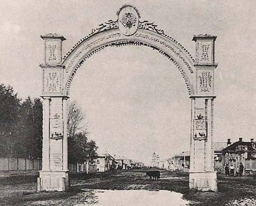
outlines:
M43 69L43 95L61 95L62 77L62 69Z

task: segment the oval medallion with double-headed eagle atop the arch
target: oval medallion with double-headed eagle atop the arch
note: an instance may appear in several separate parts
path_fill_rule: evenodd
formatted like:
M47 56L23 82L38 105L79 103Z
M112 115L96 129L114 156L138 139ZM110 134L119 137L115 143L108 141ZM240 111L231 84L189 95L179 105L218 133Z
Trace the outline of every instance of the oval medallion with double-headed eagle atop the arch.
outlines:
M118 27L125 36L131 36L138 29L138 12L130 5L122 7L118 14Z

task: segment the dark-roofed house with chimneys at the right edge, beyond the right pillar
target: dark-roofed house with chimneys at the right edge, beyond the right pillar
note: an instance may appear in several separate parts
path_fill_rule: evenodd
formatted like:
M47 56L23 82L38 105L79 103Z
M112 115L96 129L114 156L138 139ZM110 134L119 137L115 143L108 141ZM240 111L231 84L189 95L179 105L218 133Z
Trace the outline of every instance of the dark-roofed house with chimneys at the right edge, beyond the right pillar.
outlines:
M243 165L243 173L245 171L256 171L256 142L250 139L250 142L243 142L240 137L239 141L230 144L222 150L223 167L226 165L235 167L235 174L239 174L240 165Z

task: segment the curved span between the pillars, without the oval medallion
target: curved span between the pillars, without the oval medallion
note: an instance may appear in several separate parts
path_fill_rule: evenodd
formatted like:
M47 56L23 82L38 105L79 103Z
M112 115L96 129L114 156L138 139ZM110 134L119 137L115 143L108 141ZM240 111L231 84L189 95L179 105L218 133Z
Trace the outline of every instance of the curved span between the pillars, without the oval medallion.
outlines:
M69 94L72 79L76 71L88 58L103 50L105 47L124 45L143 45L160 52L177 67L184 78L189 95L194 95L195 60L181 44L165 34L163 30L157 29L156 25L153 23L139 22L136 34L133 36L125 36L114 26L117 22L113 23L112 20L109 22L112 22L112 27L106 26L106 28L109 29L103 31L92 30L90 35L80 39L79 42L72 47L71 51L64 56L62 62L62 65L65 66L63 92L66 96ZM154 26L153 31L149 29L149 25Z

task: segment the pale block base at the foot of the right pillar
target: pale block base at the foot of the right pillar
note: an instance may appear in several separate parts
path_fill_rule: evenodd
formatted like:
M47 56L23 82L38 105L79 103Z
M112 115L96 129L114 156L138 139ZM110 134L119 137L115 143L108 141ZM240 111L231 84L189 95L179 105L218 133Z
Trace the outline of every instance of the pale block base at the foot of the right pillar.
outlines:
M190 189L217 192L217 172L190 172Z

